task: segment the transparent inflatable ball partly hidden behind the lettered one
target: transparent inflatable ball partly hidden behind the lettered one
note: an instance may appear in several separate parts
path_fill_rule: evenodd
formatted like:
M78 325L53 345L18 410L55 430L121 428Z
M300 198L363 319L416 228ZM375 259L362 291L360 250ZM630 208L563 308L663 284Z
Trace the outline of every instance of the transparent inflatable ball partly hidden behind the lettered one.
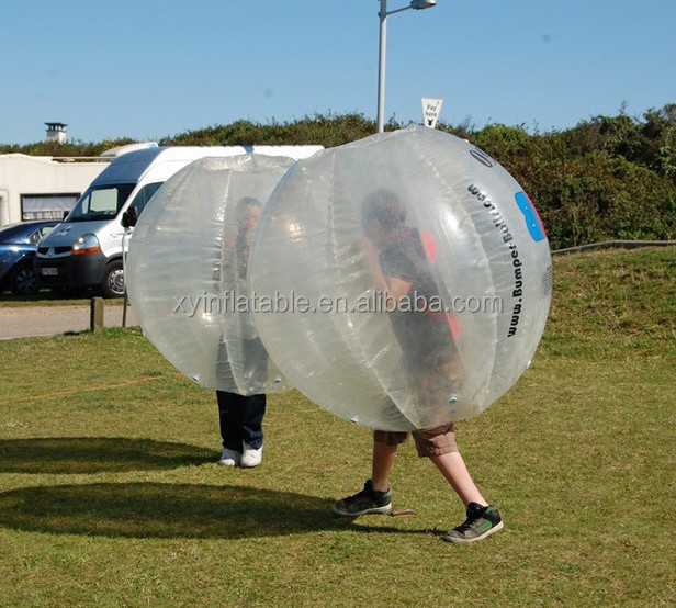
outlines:
M134 229L134 314L157 349L209 389L289 389L254 325L247 263L268 196L293 162L256 154L196 160L160 188Z

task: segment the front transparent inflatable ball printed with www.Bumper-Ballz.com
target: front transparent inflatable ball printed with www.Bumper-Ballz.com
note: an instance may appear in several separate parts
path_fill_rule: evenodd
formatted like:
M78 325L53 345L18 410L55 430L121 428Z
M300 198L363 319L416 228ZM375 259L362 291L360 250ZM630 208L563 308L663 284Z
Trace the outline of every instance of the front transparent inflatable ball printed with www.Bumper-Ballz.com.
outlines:
M484 412L527 369L551 299L547 235L495 159L410 127L295 164L249 259L267 351L322 407L383 430Z

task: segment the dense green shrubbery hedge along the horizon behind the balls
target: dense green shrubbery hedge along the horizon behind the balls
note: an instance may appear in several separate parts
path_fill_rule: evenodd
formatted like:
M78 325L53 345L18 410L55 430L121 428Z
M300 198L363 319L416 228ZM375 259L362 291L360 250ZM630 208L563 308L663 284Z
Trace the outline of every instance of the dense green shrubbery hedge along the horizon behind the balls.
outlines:
M386 130L403 126L392 120ZM502 124L475 128L441 123L439 128L470 139L516 177L540 211L554 249L609 239L676 238L676 104L641 117L596 116L548 133ZM236 121L160 144L334 147L374 132L374 121L362 114L317 114L290 123ZM132 142L0 145L0 154L98 156Z

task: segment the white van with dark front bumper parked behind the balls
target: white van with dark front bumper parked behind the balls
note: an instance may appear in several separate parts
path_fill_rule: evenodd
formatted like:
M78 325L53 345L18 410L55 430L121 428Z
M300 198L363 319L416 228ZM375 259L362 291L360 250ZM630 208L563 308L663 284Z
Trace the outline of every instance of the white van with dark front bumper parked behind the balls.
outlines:
M55 291L100 288L106 297L124 294L122 215L140 215L153 194L185 165L207 156L264 154L298 160L322 146L154 147L115 159L80 196L68 216L40 241L35 275Z

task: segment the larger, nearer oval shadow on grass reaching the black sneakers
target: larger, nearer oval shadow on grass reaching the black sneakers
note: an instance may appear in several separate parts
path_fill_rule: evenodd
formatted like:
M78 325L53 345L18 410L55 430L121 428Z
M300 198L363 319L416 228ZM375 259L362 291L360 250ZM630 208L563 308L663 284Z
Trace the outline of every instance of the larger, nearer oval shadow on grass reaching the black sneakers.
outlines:
M0 494L0 526L47 533L238 539L337 529L341 523L327 499L243 486L100 483ZM388 526L359 529L428 533Z

